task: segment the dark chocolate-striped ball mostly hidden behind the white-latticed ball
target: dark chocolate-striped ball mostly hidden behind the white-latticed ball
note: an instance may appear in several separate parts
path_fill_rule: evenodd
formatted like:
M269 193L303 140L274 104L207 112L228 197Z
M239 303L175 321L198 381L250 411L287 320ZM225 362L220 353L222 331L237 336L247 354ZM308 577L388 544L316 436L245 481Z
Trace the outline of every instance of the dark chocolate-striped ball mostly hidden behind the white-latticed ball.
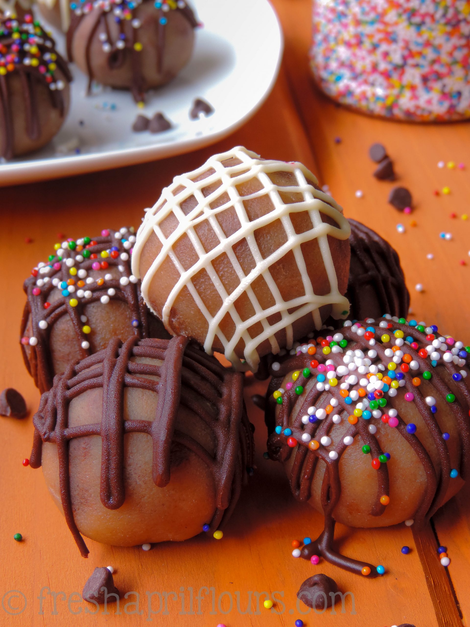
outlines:
M351 303L350 319L407 316L410 295L397 252L364 224L348 222L351 264L346 297Z

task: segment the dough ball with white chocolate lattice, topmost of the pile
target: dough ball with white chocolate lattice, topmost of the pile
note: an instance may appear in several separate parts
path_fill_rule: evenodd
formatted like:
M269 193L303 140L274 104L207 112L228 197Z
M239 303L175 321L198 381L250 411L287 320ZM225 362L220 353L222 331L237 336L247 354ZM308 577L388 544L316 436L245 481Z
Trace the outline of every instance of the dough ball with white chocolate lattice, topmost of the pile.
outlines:
M169 332L255 372L260 357L347 315L349 234L305 166L237 147L164 189L132 270Z

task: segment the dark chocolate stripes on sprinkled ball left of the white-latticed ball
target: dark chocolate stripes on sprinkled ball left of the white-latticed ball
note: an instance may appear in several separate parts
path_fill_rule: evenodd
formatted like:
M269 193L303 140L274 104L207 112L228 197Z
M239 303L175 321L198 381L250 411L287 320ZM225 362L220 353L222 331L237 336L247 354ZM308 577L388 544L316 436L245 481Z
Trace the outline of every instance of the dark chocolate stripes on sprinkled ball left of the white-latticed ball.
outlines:
M130 270L130 253L123 248L120 238L116 238L115 235L118 231L113 231L112 229L108 230L110 232L109 236L93 238L92 241L96 241L97 244L95 246L86 246L86 250L89 250L90 253L96 253L98 255L98 259L84 259L83 261L77 262L76 267L86 270L87 272L92 270L91 266L95 261L103 261L100 258L100 253L103 250L108 250L109 248L115 246L119 250L119 256L117 259L113 259L111 256L108 256L106 258L108 266L123 266L124 270L120 272L120 276L129 278L132 275ZM82 251L78 252L76 250L64 249L60 270L54 270L54 268L51 268L46 275L43 275L44 277L49 277L50 281L41 287L41 293L38 296L33 295L33 288L36 287L36 282L38 278L41 278L41 275L38 274L37 277L31 276L27 278L23 285L23 289L28 297L28 300L24 305L20 337L24 337L26 327L28 326L28 320L31 317L33 335L38 339L38 344L35 346L28 345L28 352L26 352L26 347L21 344L21 350L23 352L24 364L26 365L29 374L31 374L34 378L34 382L36 386L39 387L41 393L51 389L53 385L54 371L50 354L51 328L63 315L68 315L73 324L73 328L75 329L81 357L88 357L91 350L81 347L81 343L84 340L87 340L87 335L83 333L82 329L84 323L81 322L80 317L84 314L85 307L88 303L99 301L102 296L107 295L110 288L115 289L115 295L110 296L110 300L120 300L127 303L132 318L134 320L138 320L138 326L133 327L135 335L138 338L148 337L149 335L149 310L144 303L144 299L140 295L139 283L129 282L128 285L124 286L120 284L119 279L113 278L105 279L103 285L98 285L95 280L93 283L86 283L83 288L84 290L90 290L90 292L92 292L91 298L77 298L78 305L76 305L76 307L71 307L68 303L70 298L75 297L75 293L72 293L70 297L60 295L55 302L51 303L48 309L44 309L44 303L48 302L50 293L53 290L58 290L58 292L60 292L60 288L53 285L53 278L58 278L61 282L70 279L70 268L66 265L65 260L68 258L75 259L77 255L81 254L81 252ZM120 258L121 253L128 253L129 259L127 261L122 260ZM103 307L106 307L106 305L103 305ZM39 328L39 322L41 320L45 320L48 323L48 327L46 329Z

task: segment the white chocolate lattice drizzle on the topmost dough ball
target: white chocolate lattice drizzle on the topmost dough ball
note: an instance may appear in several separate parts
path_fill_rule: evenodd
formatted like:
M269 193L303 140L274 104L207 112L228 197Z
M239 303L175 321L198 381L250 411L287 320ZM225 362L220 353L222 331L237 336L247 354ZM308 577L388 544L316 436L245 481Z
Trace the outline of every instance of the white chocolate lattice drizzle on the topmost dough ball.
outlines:
M239 163L225 167L222 162L228 159L239 160ZM196 182L193 180L201 176L201 174L207 173L210 169L212 170L209 176L206 176L201 181ZM274 172L292 173L296 178L297 186L277 186L269 177L269 174ZM258 179L261 184L259 186L261 189L248 196L240 196L237 186L243 182L251 181L251 179L254 178ZM147 209L144 221L138 229L137 241L132 255L132 271L135 276L139 276L140 255L150 235L155 233L160 240L162 248L149 270L145 273L145 276L142 277L142 295L147 305L149 305L153 311L152 305L149 302L149 286L152 283L152 278L154 278L155 273L159 271L162 263L164 263L164 260L170 258L180 274L179 280L170 291L161 312L162 320L170 333L175 334L175 330L172 329L170 325L172 307L181 290L186 287L189 293L191 293L192 298L194 298L197 307L199 307L207 320L208 330L204 342L206 352L212 352L212 345L214 344L214 339L217 337L224 347L226 358L231 361L237 369L246 369L246 366L244 366L243 362L234 352L238 342L243 339L244 359L249 368L252 371L256 371L259 363L259 355L256 348L261 342L269 340L272 352L274 354L279 352L279 344L276 337L274 337L276 332L285 329L286 348L290 349L295 339L293 337L292 325L296 320L311 314L315 327L320 329L322 322L318 309L323 305L332 305L332 315L335 318L347 315L349 303L347 298L343 297L338 291L337 274L327 236L332 236L338 240L347 240L350 235L350 226L347 219L343 216L342 208L335 203L328 194L308 184L307 179L317 184L315 176L300 163L264 161L254 152L250 152L243 147L236 147L229 150L229 152L214 155L202 167L193 172L176 176L172 185L165 187L158 203L155 204L152 209ZM202 189L207 188L211 184L219 184L219 186L205 197ZM214 185L214 187L215 186L216 185ZM279 192L302 194L303 201L286 204L283 202ZM211 208L211 203L214 203L216 199L219 200L223 194L228 198L227 202L224 202L217 208ZM262 196L269 196L273 210L250 221L244 203L252 199L261 198ZM194 209L185 215L184 211L180 208L180 203L191 197L196 199L197 204ZM225 211L227 208L234 208L240 224L240 228L229 236L224 234L221 224L217 221L217 214ZM311 220L312 228L303 233L296 233L290 218L290 214L298 212L308 212ZM172 231L168 237L165 237L160 225L170 214L174 214L179 224L177 224L174 231ZM337 226L323 222L321 220L321 214L330 216ZM204 221L209 222L217 238L219 238L219 244L214 246L209 252L204 250L204 246L202 246L195 229ZM286 241L283 245L279 246L277 250L273 251L272 254L263 258L254 233L256 229L263 228L268 224L274 223L274 221L281 222L285 229ZM196 263L192 264L187 270L184 270L184 266L175 255L173 248L175 243L183 235L189 238L192 246L194 246L194 250L199 256ZM315 239L318 241L321 258L323 259L323 265L325 266L326 275L330 283L330 292L325 295L315 294L301 251L301 245L303 243ZM249 250L256 263L255 267L253 270L249 271L248 275L245 275L233 249L238 242L243 240L248 243ZM290 251L295 257L305 293L286 302L281 296L279 287L271 275L269 268ZM231 293L227 292L212 265L213 261L222 254L228 256L239 279L238 287ZM201 270L207 272L207 275L209 275L222 300L222 306L215 315L210 314L203 298L201 298L200 293L196 290L193 283L194 277ZM263 309L254 294L252 287L253 282L259 277L264 278L269 290L271 290L275 302L273 307ZM236 300L243 295L243 293L246 293L248 296L254 310L254 315L246 320L241 319L234 306ZM224 335L224 332L222 332L219 326L221 320L223 320L224 316L227 314L232 317L235 324L235 332L230 338ZM274 314L280 314L281 319L274 324L269 324L268 318ZM256 335L256 337L251 337L248 329L257 323L261 323L263 332Z

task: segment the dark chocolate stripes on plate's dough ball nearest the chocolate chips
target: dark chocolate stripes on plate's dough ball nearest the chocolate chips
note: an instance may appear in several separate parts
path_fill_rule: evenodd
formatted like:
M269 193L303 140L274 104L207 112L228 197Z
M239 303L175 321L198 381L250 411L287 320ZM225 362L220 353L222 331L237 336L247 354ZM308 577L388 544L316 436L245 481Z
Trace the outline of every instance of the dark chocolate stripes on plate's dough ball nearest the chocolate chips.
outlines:
M150 0L144 0L144 1L150 1ZM135 9L132 9L131 21L132 19L135 18L135 12L137 11L138 6L140 5L137 5ZM91 28L90 33L88 34L88 38L86 40L86 45L85 45L86 68L88 70L87 93L88 94L90 93L91 83L93 82L93 71L91 70L91 61L90 61L91 43L93 41L93 36L97 32L97 29L100 26L103 26L103 29L106 32L107 37L108 37L107 41L108 43L110 43L110 45L112 45L112 49L108 53L108 66L110 70L117 69L120 66L122 66L123 63L125 62L126 53L130 54L131 63L132 63L132 85L130 86L130 91L132 93L132 96L135 102L140 102L144 100L144 93L147 91L148 87L145 84L145 78L142 73L141 57L142 55L145 54L145 52L144 51L139 52L135 50L135 48L133 47L136 41L135 40L136 29L132 28L132 37L131 38L127 37L124 40L126 42L125 48L117 48L116 46L117 40L112 41L110 29L108 26L108 20L107 20L108 14L112 16L112 12L105 11L105 9L100 9L97 7L93 8L93 11L97 11L97 19L95 21L95 24L93 24L93 28ZM164 59L165 59L165 26L164 24L160 23L160 18L163 18L165 16L165 11L161 8L160 9L155 8L155 11L157 11L158 19L159 19L159 22L157 24L157 53L158 53L157 71L161 73L163 70ZM186 5L182 9L176 8L176 9L172 9L172 11L179 11L179 13L181 13L187 19L189 24L191 24L192 28L196 28L196 26L199 26L199 22L197 21L196 16L194 15L194 12L192 11L191 7ZM72 52L73 37L75 35L76 30L78 29L78 26L80 26L80 23L84 17L85 17L85 14L77 15L76 13L73 13L71 16L70 27L66 35L67 56L68 56L69 61L73 61L73 52ZM120 24L119 24L120 34L124 34L124 25L126 22L127 20L120 21ZM129 42L130 42L130 45L129 45Z

